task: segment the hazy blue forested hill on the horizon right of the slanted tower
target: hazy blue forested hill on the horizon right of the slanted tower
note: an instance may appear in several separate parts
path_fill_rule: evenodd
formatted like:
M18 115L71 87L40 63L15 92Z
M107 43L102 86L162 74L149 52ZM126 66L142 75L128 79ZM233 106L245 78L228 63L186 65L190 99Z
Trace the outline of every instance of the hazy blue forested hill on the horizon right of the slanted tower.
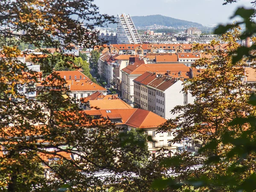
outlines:
M163 15L148 15L148 16L131 16L136 27L145 27L151 25L163 25L163 26L186 26L186 27L202 27L200 23L190 22L186 20L175 19L172 17L166 17Z

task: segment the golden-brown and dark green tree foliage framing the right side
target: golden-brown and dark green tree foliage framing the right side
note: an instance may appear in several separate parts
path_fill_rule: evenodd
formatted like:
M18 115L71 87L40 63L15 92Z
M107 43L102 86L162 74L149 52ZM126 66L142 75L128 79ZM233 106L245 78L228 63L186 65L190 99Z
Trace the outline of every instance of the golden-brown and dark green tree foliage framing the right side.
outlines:
M233 3L235 0L227 0ZM252 2L255 3L255 2ZM250 95L255 84L245 79L246 61L255 63L255 45L243 47L238 39L251 37L256 24L251 20L254 9L237 9L235 16L242 22L218 26L215 33L223 34L227 52L208 51L214 57L202 58L192 67L208 65L195 78L189 79L184 91L196 97L195 103L177 106L172 112L183 112L170 119L162 131L175 131L175 141L191 138L203 147L199 154L185 152L162 161L176 177L154 181L154 189L169 191L247 191L256 190L256 96ZM240 24L246 25L241 33ZM255 38L253 38L255 42ZM211 45L218 44L212 41ZM196 45L195 50L204 46Z

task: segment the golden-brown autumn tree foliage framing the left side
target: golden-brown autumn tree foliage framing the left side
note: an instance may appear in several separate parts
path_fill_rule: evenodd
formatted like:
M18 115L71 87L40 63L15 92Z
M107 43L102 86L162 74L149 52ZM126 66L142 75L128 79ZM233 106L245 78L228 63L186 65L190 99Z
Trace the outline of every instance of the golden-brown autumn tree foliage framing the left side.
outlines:
M134 146L129 149L130 145L122 145L119 128L106 119L87 116L63 96L68 90L65 80L52 73L55 64L61 61L59 67L67 69L75 64L86 71L88 64L81 58L63 52L49 54L41 48L69 49L71 43L93 47L98 42L94 27L108 22L113 22L113 17L100 15L93 0L0 1L0 26L12 29L0 31L1 38L10 39L0 49L0 55L5 56L0 60L0 191L79 192L109 187L116 191L150 191L148 183L164 173L157 161L143 169L134 166L127 158ZM48 54L32 57L43 75L51 74L47 81L17 59L26 55L19 49L20 44L32 44ZM18 86L34 83L41 84L35 100L17 92ZM35 89L30 87L31 91ZM134 158L145 155L139 148L132 154ZM57 164L51 163L52 158ZM43 169L57 179L44 177ZM108 175L97 175L100 171Z

